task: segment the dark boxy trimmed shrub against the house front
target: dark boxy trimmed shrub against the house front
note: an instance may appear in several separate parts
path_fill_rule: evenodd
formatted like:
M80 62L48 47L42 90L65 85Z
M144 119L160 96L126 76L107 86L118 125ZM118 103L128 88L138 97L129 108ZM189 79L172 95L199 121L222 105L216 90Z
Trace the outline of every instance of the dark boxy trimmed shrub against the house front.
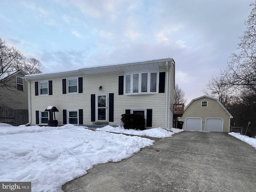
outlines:
M144 115L140 114L122 114L121 121L125 129L146 129L146 120Z

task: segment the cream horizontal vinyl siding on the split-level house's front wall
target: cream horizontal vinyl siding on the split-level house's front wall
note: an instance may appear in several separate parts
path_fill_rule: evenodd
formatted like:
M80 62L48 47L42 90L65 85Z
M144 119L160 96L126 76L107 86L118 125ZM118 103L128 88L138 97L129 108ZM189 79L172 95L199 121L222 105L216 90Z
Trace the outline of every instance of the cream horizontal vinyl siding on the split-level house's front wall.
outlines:
M161 72L161 71L160 71ZM166 94L130 94L118 95L118 76L126 76L124 72L109 72L102 74L89 74L83 77L83 87L85 92L81 94L62 94L62 79L70 77L53 78L52 90L54 94L47 100L40 100L31 95L32 103L32 124L36 124L35 112L38 109L47 108L47 106L56 106L60 112L56 112L56 120L63 124L62 110L83 109L83 124L92 124L91 122L91 94L109 94L114 93L114 122L110 124L119 124L121 115L126 109L152 109L152 127L165 128L165 99ZM100 77L100 78L99 78ZM104 89L99 90L99 86ZM170 85L170 84L169 84ZM31 90L34 90L34 81L30 83ZM104 91L103 91L104 90ZM157 86L158 90L158 86ZM168 110L169 119L169 110ZM68 114L67 114L68 118ZM67 121L68 123L68 121ZM172 123L171 123L172 124Z

